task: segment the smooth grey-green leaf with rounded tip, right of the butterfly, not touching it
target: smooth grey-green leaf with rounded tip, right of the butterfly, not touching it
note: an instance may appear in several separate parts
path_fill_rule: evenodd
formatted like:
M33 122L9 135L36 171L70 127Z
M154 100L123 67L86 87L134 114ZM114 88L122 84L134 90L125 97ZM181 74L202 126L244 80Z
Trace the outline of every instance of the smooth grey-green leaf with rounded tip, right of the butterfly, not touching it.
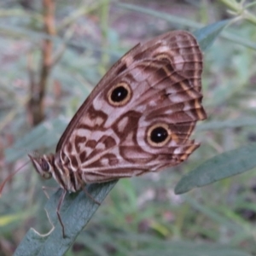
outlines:
M177 183L175 193L183 194L196 187L247 172L256 166L255 155L256 143L218 154L184 176Z

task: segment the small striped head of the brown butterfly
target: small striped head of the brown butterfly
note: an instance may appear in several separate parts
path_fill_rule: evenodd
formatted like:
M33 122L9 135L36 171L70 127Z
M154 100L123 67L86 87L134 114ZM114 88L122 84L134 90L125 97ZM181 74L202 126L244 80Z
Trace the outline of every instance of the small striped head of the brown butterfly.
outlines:
M41 177L45 179L49 179L52 177L52 161L54 160L54 155L44 154L42 157L33 157L32 155L28 155L30 160L32 160L32 164L35 167L36 171L39 173Z

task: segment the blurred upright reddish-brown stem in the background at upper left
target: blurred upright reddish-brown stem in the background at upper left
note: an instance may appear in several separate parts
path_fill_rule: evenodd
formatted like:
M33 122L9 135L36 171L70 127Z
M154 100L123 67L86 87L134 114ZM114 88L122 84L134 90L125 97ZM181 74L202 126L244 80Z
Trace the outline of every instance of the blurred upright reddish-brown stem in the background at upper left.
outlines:
M44 32L50 36L55 35L55 0L43 0L44 4ZM44 95L52 68L53 43L44 39L42 45L42 62L38 84L31 79L31 100L29 110L32 125L38 125L44 119ZM32 78L32 76L30 76Z

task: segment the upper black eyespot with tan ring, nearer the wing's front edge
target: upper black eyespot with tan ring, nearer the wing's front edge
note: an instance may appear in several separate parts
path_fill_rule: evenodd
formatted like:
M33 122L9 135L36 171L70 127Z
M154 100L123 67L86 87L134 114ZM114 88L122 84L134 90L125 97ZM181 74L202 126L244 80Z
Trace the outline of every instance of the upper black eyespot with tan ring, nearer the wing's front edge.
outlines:
M116 84L108 91L108 102L117 107L124 106L131 99L131 88L125 82Z

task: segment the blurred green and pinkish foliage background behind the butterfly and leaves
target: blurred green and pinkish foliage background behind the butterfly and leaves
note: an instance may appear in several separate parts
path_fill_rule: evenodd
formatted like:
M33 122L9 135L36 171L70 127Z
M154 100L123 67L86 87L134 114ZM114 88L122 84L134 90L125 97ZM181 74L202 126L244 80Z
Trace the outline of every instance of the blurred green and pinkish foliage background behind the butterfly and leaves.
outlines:
M1 0L0 183L27 153L55 151L81 103L135 44L235 19L204 53L208 119L193 135L201 147L169 171L120 180L67 255L216 255L223 246L237 254L218 255L256 255L255 170L173 192L195 166L256 141L255 10L255 1L232 0ZM12 255L30 227L51 228L42 186L55 182L31 164L23 169L0 199L1 256ZM175 254L179 248L187 253Z

